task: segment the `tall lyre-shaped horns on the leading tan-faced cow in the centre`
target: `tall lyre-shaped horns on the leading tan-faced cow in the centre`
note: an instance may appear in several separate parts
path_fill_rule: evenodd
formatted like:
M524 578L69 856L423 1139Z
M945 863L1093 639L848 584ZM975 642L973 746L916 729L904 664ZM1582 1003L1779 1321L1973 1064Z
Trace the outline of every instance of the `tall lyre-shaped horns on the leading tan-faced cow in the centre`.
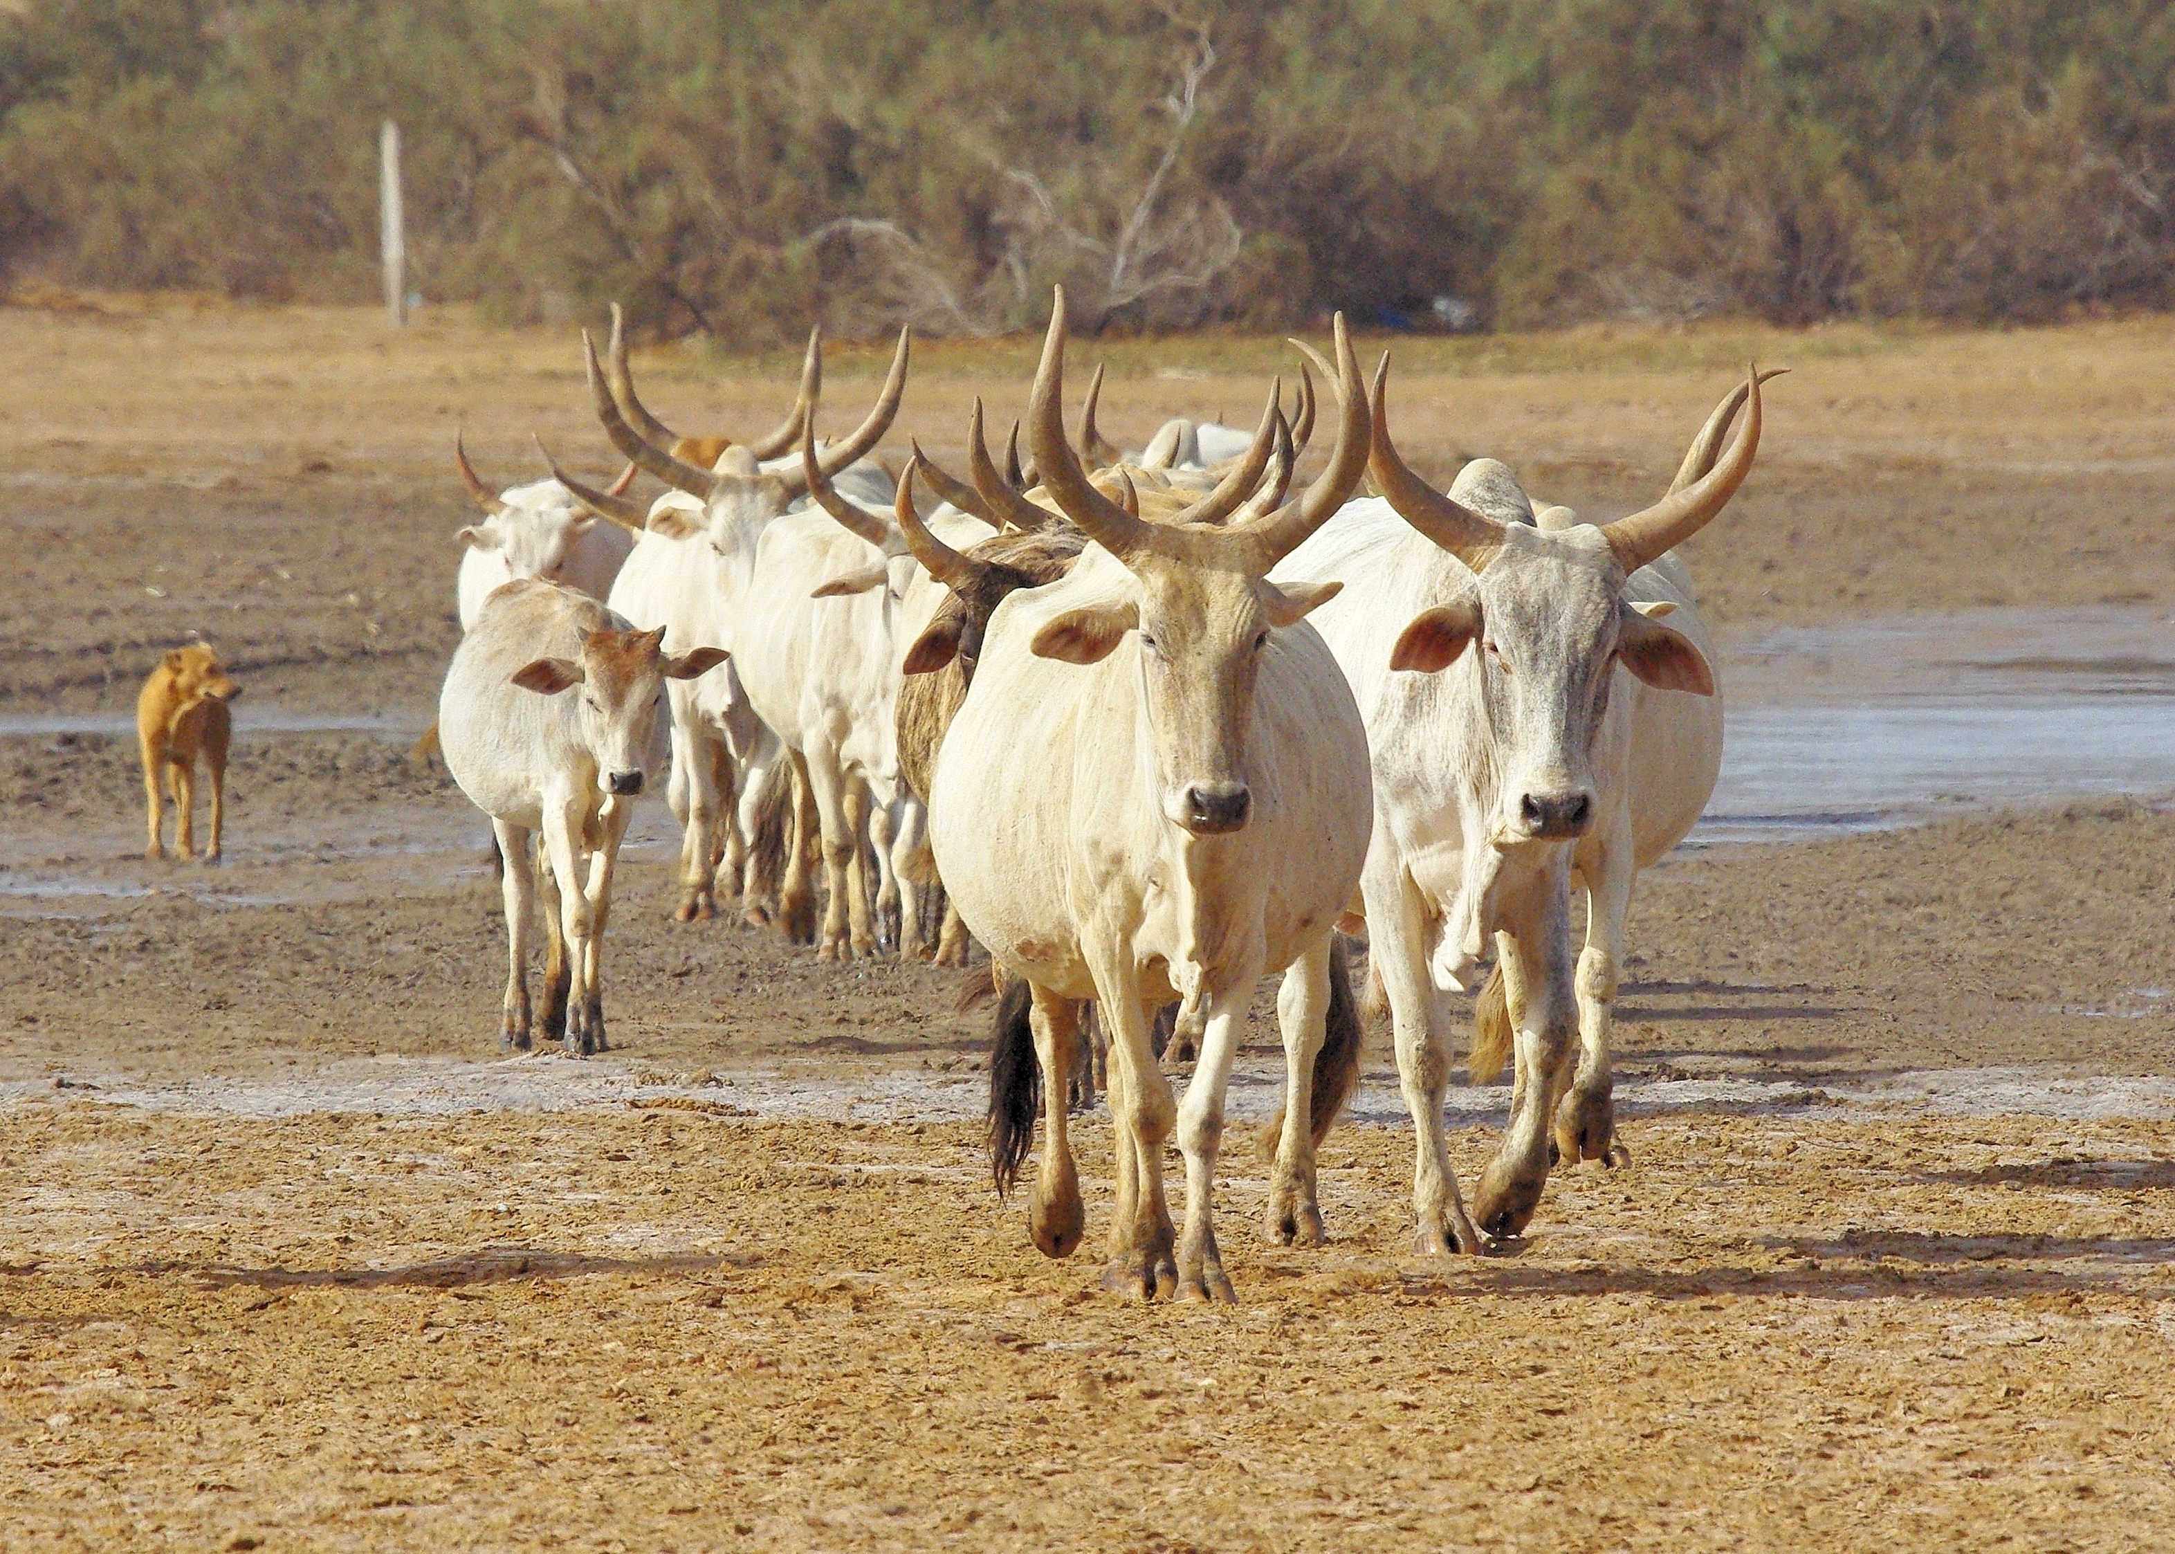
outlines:
M1255 431L1253 446L1207 496L1192 503L1166 522L1148 522L1129 514L1120 503L1088 483L1064 424L1064 377L1066 377L1066 294L1057 287L1051 309L1051 331L1042 342L1042 366L1035 370L1035 392L1027 416L1029 448L1044 488L1077 522L1090 540L1120 562L1133 564L1151 555L1238 570L1266 577L1288 553L1320 529L1329 516L1344 505L1359 483L1368 461L1368 403L1362 394L1359 363L1353 357L1351 337L1344 333L1344 316L1335 320L1335 390L1340 405L1338 444L1329 455L1329 468L1292 503L1262 511L1248 498L1262 488L1262 474L1279 448L1288 448L1292 433L1283 420L1281 381L1270 387L1268 409ZM977 424L979 442L979 424ZM985 451L983 451L983 459ZM979 474L979 470L977 470ZM1290 474L1279 477L1281 485ZM981 481L977 479L977 485ZM1020 498L1024 503L1024 498ZM1240 511L1248 507L1246 511ZM1235 516L1235 520L1233 520ZM1225 522L1233 520L1233 522Z

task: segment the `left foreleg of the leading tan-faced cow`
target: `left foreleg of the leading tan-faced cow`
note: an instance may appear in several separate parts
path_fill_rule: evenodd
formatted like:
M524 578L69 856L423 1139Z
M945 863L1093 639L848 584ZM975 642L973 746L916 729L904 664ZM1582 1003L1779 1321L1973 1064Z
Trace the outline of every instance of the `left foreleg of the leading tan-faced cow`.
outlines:
M1140 975L1127 947L1090 949L1096 1008L1111 1047L1109 1114L1118 1134L1118 1249L1114 1284L1142 1299L1170 1295L1179 1282L1177 1232L1164 1199L1164 1140L1177 1123L1170 1080L1155 1066L1148 1040L1153 1010L1142 1003Z

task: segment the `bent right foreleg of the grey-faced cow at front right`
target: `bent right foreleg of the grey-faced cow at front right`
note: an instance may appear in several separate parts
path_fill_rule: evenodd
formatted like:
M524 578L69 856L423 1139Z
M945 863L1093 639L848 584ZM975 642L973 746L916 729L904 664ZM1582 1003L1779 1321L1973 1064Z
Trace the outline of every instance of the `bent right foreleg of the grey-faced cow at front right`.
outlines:
M1518 1075L1509 1125L1481 1171L1472 1210L1490 1236L1516 1236L1533 1219L1549 1184L1555 1103L1570 1080L1579 1001L1570 986L1570 858L1549 864L1533 890L1512 892L1496 934L1503 992L1512 1016Z

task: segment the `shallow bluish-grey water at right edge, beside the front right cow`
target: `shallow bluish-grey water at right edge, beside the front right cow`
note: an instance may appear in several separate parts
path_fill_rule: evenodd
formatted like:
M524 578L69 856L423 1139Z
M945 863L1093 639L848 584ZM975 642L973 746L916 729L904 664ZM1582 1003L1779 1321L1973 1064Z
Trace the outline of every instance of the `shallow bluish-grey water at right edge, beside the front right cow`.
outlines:
M1723 681L1723 775L1694 844L2175 790L2175 622L2155 609L1790 627L1725 646Z

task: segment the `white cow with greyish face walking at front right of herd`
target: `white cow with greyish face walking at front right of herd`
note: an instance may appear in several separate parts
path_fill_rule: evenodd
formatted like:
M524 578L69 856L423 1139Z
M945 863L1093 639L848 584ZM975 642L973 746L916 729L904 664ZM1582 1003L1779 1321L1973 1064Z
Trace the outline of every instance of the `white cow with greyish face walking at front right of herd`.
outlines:
M1518 1069L1509 1127L1475 1193L1481 1230L1525 1228L1553 1154L1612 1158L1607 1038L1631 884L1699 818L1723 744L1707 633L1666 553L1751 472L1749 390L1751 414L1712 472L1747 390L1716 409L1660 505L1601 527L1553 507L1536 525L1492 459L1466 466L1451 496L1412 474L1377 374L1370 472L1385 498L1353 503L1275 572L1351 581L1316 625L1368 723L1370 966L1418 1130L1422 1251L1479 1249L1444 1147L1451 1029L1435 992L1470 984L1490 934L1501 986L1481 997L1472 1071L1494 1077L1507 1027ZM1575 877L1588 899L1579 955ZM1505 995L1507 1019L1492 1014Z

